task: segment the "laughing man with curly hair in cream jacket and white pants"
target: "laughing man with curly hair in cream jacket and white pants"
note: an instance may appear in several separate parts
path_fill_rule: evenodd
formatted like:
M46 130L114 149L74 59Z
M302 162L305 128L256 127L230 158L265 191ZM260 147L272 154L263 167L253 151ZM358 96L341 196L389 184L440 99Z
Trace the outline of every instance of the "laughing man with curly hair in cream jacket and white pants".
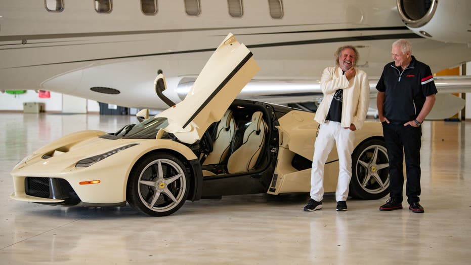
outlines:
M347 211L347 197L352 178L354 131L360 130L368 111L370 89L366 72L357 69L358 51L341 46L334 54L336 66L324 69L321 90L324 94L316 111L320 125L314 144L311 170L311 199L305 211L322 209L324 165L335 142L338 153L338 181L335 191L337 211Z

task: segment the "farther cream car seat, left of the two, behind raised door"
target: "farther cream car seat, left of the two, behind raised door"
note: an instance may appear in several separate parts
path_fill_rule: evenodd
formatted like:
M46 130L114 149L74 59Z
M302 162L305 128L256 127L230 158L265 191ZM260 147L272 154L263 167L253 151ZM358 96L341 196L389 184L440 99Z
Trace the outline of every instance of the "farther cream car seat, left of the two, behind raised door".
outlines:
M236 124L232 110L228 109L218 124L216 138L212 142L212 152L203 161L203 165L223 163L229 154Z

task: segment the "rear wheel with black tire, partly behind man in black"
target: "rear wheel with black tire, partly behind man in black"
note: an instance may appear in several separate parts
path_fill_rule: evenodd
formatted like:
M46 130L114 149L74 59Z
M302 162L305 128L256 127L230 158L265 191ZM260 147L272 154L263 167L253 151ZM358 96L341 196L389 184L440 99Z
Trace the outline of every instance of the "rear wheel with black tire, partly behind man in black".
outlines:
M389 194L389 158L384 140L369 139L352 154L350 195L377 200Z

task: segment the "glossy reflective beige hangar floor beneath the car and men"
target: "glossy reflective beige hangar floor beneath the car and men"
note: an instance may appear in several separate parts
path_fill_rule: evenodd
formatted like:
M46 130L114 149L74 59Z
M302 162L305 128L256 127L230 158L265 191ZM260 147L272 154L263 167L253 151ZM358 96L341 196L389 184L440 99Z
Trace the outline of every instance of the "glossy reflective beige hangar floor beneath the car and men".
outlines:
M2 264L469 264L471 122L425 122L424 214L380 212L387 198L303 212L302 195L186 202L152 218L131 207L65 208L14 201L10 171L27 154L84 129L114 132L130 116L2 113ZM466 136L468 136L466 138Z

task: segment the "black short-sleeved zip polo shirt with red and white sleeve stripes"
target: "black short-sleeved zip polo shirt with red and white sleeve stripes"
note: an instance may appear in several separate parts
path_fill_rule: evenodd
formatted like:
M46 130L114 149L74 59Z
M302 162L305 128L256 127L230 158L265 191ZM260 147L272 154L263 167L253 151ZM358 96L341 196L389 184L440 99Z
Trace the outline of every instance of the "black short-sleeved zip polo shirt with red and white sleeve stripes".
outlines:
M437 93L430 67L414 56L404 70L394 62L384 66L376 89L385 92L384 117L396 124L416 119L425 97Z

